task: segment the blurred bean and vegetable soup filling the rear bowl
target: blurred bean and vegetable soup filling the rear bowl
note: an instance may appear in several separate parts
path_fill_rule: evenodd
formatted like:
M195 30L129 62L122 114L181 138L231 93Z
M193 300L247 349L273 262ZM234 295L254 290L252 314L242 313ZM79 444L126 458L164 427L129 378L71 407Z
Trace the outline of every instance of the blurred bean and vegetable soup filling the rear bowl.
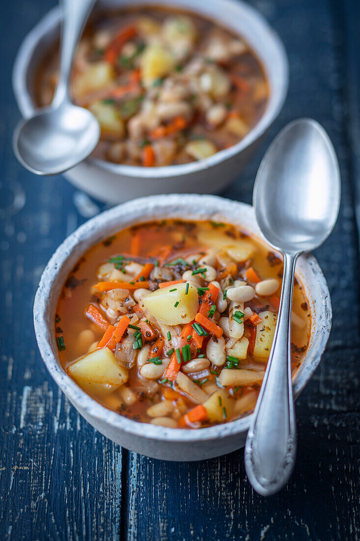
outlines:
M51 102L57 77L58 45L37 70L37 105ZM151 167L200 160L241 141L269 90L241 36L191 12L144 6L92 19L72 93L101 124L96 157Z

